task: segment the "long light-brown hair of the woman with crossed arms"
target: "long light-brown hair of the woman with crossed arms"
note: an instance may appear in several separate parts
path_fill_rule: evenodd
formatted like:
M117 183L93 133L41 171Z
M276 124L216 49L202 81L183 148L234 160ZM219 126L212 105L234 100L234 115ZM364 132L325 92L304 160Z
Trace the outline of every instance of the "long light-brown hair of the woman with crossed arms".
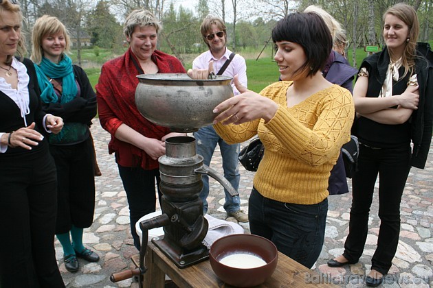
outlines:
M383 16L383 22L385 22L385 17L388 14L396 16L409 27L408 41L406 42L406 47L403 50L403 56L401 56L402 65L404 67L404 74L402 77L405 77L409 71L413 70L415 65L415 57L417 56L417 41L419 34L417 12L408 4L397 3L386 10ZM392 56L392 52L389 49L388 53L390 53L390 56Z

